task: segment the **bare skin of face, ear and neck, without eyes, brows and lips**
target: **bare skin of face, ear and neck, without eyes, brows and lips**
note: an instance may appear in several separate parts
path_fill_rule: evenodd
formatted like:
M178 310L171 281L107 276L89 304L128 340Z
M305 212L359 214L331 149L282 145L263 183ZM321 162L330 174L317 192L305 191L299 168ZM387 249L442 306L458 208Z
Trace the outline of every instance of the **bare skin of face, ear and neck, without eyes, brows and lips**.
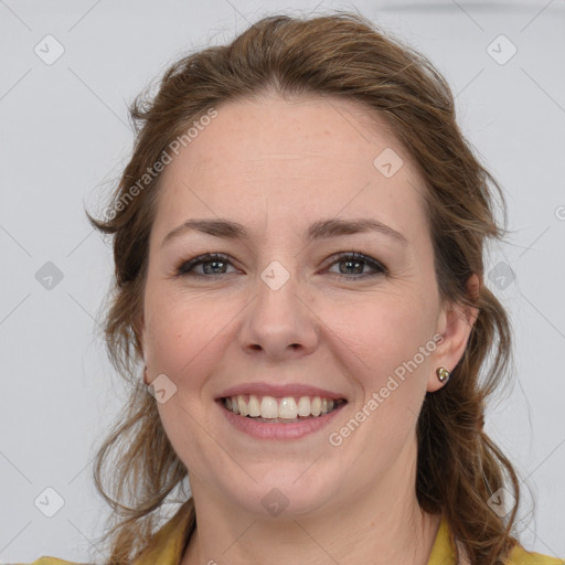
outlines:
M177 386L158 407L196 507L182 565L425 565L439 515L416 500L417 415L426 393L444 386L436 369L461 358L477 312L438 294L423 180L384 121L375 126L354 102L273 94L216 109L163 171L139 322L146 383L166 374ZM373 166L385 148L404 161L391 178ZM367 232L306 244L311 223L337 216L379 220L406 243ZM250 238L188 232L162 244L188 218L217 217L244 224ZM209 263L207 278L174 276L206 252L231 263ZM363 278L371 264L358 274L332 258L340 252L365 254L386 273ZM289 274L278 290L260 278L273 260ZM477 285L471 277L469 291ZM435 334L441 344L332 446L328 434ZM214 402L258 381L311 384L349 403L321 431L258 440ZM262 504L274 488L288 499L278 516Z

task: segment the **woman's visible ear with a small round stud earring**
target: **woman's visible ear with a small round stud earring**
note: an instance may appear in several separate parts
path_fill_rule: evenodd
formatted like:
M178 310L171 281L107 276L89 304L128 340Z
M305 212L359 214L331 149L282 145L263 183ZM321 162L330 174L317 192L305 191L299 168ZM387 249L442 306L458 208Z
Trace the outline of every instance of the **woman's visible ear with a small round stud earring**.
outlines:
M473 274L467 280L467 296L470 301L477 302L481 287L481 280ZM437 323L437 333L443 337L438 343L435 355L431 374L428 377L428 392L436 392L447 383L441 383L436 370L440 366L451 372L461 360L472 327L479 316L479 309L462 302L445 303Z

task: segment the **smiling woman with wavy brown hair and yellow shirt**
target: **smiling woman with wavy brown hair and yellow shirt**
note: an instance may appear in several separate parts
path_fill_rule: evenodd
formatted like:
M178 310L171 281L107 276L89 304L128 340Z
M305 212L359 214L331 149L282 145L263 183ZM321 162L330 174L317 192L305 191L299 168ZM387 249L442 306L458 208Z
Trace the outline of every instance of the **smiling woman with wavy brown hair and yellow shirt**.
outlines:
M132 117L90 217L131 382L95 467L108 563L564 563L513 537L483 430L511 343L483 284L501 193L433 65L358 15L271 17Z

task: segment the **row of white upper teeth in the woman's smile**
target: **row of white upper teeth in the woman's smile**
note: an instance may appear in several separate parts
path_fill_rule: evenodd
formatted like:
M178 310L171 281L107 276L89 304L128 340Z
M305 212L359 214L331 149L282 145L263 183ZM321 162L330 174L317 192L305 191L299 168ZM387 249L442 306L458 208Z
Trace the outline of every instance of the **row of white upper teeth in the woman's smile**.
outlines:
M239 394L224 398L225 407L234 414L286 419L292 419L297 416L320 416L320 414L331 412L341 402L343 401L333 401L320 396L313 396L312 398L310 396L275 398L274 396L257 396L255 394Z

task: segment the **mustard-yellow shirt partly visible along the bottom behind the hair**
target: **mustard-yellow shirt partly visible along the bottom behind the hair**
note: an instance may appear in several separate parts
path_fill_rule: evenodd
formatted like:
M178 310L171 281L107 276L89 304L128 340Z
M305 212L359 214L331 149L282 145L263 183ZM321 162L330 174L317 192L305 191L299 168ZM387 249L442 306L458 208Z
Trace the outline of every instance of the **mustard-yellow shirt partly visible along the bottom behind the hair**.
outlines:
M167 522L156 534L158 544L154 551L143 555L135 565L179 565L182 558L183 530L181 524ZM56 557L41 557L31 565L79 565ZM441 516L439 530L431 547L428 565L455 565L455 547L449 536L449 525ZM514 547L508 565L565 565L565 559L550 557L540 553L526 552L523 547Z

